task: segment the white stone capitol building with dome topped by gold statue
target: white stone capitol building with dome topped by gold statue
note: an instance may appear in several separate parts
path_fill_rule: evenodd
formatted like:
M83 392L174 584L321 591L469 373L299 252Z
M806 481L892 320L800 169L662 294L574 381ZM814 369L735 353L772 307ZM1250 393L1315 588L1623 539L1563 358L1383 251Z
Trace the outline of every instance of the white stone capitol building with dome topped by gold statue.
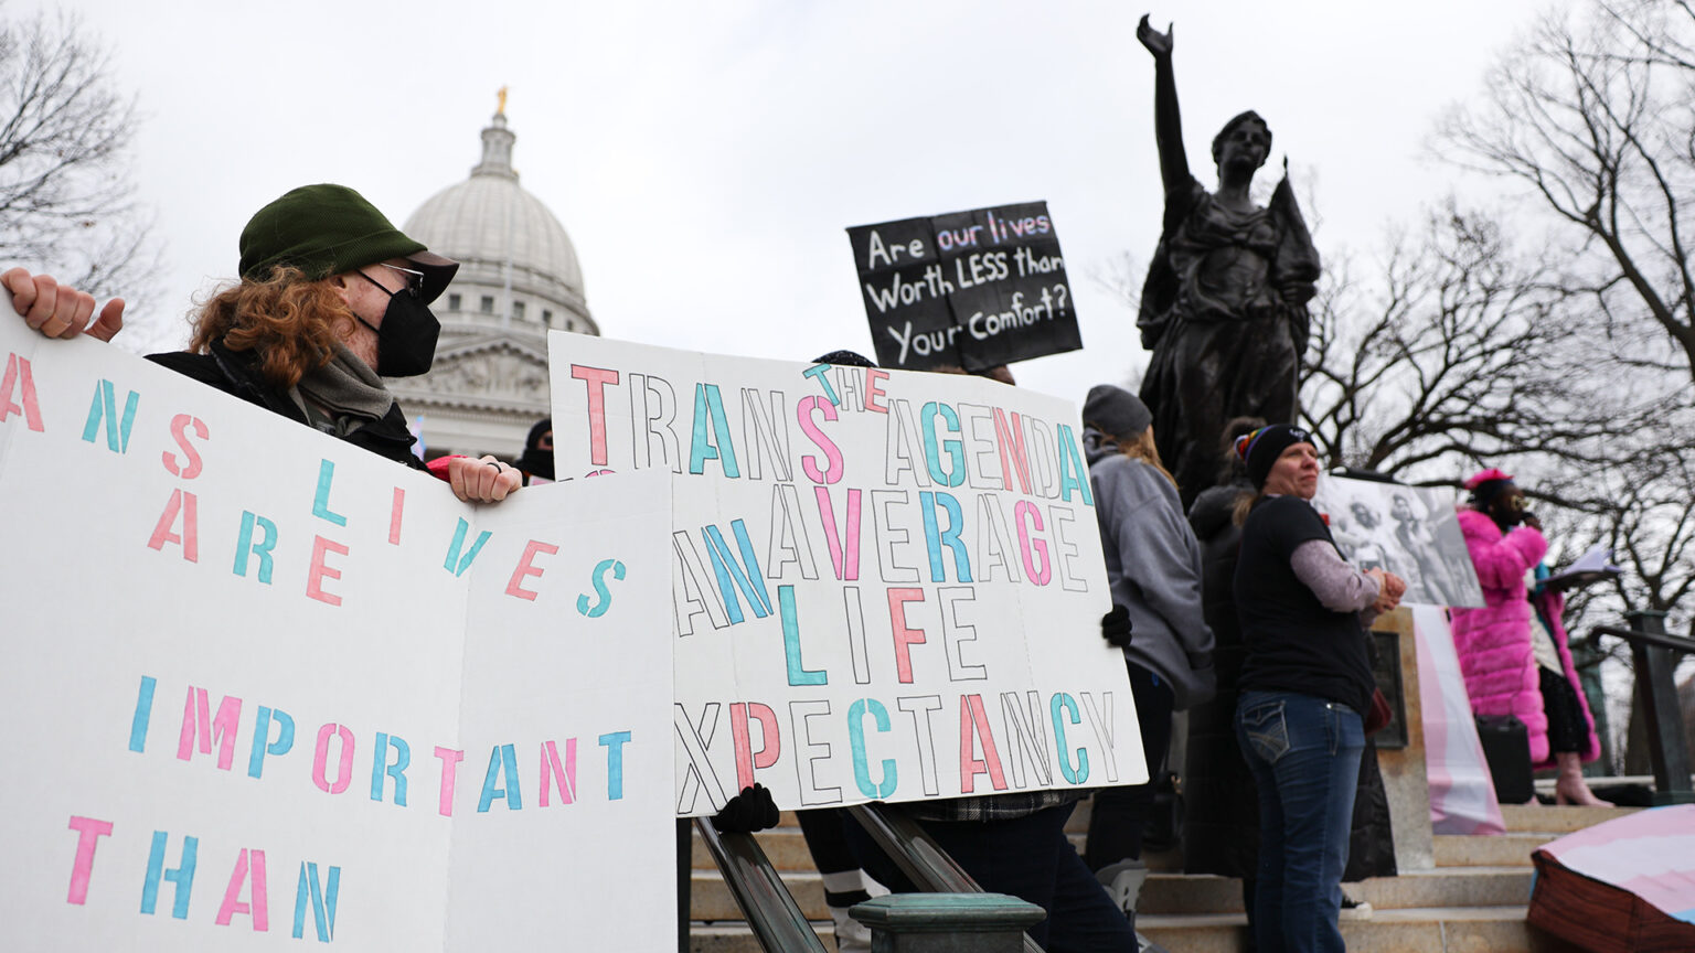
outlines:
M531 426L551 410L547 329L600 334L564 226L519 185L515 139L497 112L471 176L437 192L402 227L459 261L447 293L431 305L441 319L434 368L388 382L420 424L431 458L515 460Z

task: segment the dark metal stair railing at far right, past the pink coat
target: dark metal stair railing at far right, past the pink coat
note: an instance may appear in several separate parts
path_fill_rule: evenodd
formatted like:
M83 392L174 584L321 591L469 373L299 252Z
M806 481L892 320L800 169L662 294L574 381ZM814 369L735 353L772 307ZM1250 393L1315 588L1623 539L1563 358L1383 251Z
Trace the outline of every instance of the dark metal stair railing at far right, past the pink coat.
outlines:
M1673 672L1680 655L1695 655L1695 626L1690 638L1666 633L1664 612L1627 612L1629 629L1595 626L1590 639L1614 636L1631 643L1636 661L1636 699L1648 722L1648 758L1654 766L1656 804L1695 804L1690 783L1688 743L1683 736L1683 712Z

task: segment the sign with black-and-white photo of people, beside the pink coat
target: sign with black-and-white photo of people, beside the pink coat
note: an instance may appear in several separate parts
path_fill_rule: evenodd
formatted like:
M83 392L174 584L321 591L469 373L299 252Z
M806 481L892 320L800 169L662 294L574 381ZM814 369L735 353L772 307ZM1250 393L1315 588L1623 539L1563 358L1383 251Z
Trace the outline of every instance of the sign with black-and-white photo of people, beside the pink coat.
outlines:
M1342 558L1407 580L1409 605L1483 605L1453 502L1431 487L1322 476L1314 505Z

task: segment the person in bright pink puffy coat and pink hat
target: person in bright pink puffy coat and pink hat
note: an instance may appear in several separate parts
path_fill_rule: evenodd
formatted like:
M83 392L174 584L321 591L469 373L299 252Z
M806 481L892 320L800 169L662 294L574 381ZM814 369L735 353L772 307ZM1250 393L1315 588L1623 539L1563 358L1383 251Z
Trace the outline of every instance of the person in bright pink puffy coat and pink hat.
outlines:
M1605 804L1583 780L1583 763L1600 756L1600 741L1566 644L1566 599L1536 583L1548 553L1542 524L1500 470L1471 476L1466 488L1471 499L1459 510L1459 529L1485 605L1454 609L1453 627L1471 711L1524 722L1531 763L1559 768L1559 804Z

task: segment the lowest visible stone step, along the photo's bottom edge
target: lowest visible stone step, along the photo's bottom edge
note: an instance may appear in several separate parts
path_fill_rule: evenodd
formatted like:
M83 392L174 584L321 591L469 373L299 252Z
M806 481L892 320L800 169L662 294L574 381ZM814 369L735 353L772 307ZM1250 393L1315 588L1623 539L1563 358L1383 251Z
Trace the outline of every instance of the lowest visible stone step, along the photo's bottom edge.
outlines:
M1415 907L1375 911L1371 919L1344 919L1342 939L1351 953L1568 953L1571 946L1534 933L1526 907ZM812 928L834 950L827 921ZM1142 916L1137 929L1168 950L1183 953L1239 953L1248 943L1242 914ZM693 953L763 953L741 924L695 924Z

